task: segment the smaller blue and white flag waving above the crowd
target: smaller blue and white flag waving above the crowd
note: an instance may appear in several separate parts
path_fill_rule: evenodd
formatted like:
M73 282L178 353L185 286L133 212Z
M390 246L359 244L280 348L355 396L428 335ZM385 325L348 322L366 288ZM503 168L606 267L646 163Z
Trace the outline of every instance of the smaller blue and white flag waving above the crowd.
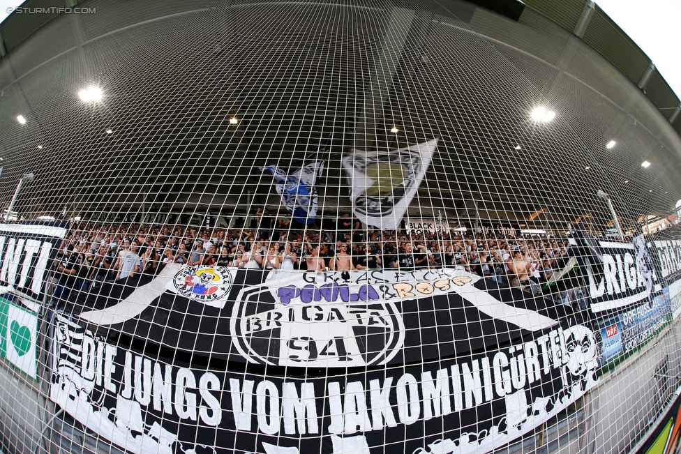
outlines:
M290 175L276 165L269 165L264 169L269 170L279 183L275 187L276 192L281 196L283 206L293 214L293 218L303 224L315 222L319 204L315 180L322 174L324 162L310 162Z

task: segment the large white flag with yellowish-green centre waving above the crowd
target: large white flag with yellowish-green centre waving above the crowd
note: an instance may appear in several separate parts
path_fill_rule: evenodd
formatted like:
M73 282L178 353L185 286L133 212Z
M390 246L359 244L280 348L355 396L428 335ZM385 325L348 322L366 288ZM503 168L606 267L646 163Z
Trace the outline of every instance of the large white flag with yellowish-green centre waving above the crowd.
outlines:
M343 158L352 211L367 225L396 229L437 148L437 139L395 151L354 151Z

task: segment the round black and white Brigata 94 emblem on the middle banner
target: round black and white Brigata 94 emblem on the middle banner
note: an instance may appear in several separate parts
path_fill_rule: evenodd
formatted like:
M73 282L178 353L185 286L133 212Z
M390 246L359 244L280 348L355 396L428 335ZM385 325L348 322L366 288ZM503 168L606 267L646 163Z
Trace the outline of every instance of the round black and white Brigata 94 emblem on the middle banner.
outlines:
M402 315L389 302L271 301L266 287L247 287L232 310L232 342L248 361L302 367L384 364L404 343Z

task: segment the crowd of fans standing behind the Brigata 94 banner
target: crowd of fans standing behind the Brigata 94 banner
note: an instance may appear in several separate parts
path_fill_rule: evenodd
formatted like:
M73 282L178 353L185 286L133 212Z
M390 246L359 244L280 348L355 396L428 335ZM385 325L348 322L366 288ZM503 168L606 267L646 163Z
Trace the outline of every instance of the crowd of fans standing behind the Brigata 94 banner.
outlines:
M547 236L490 238L366 229L345 213L335 229L292 228L258 209L251 227L73 225L59 248L56 297L160 271L167 263L316 272L463 267L537 294L564 264L568 243Z

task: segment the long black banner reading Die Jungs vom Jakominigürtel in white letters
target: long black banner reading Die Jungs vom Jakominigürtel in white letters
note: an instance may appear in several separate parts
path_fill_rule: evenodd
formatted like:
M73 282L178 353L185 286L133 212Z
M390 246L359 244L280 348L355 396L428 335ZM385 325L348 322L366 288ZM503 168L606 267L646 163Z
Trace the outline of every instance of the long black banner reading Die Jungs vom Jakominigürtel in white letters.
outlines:
M57 319L50 398L141 453L484 453L534 429L596 383L585 326L504 348L387 369L172 363Z

